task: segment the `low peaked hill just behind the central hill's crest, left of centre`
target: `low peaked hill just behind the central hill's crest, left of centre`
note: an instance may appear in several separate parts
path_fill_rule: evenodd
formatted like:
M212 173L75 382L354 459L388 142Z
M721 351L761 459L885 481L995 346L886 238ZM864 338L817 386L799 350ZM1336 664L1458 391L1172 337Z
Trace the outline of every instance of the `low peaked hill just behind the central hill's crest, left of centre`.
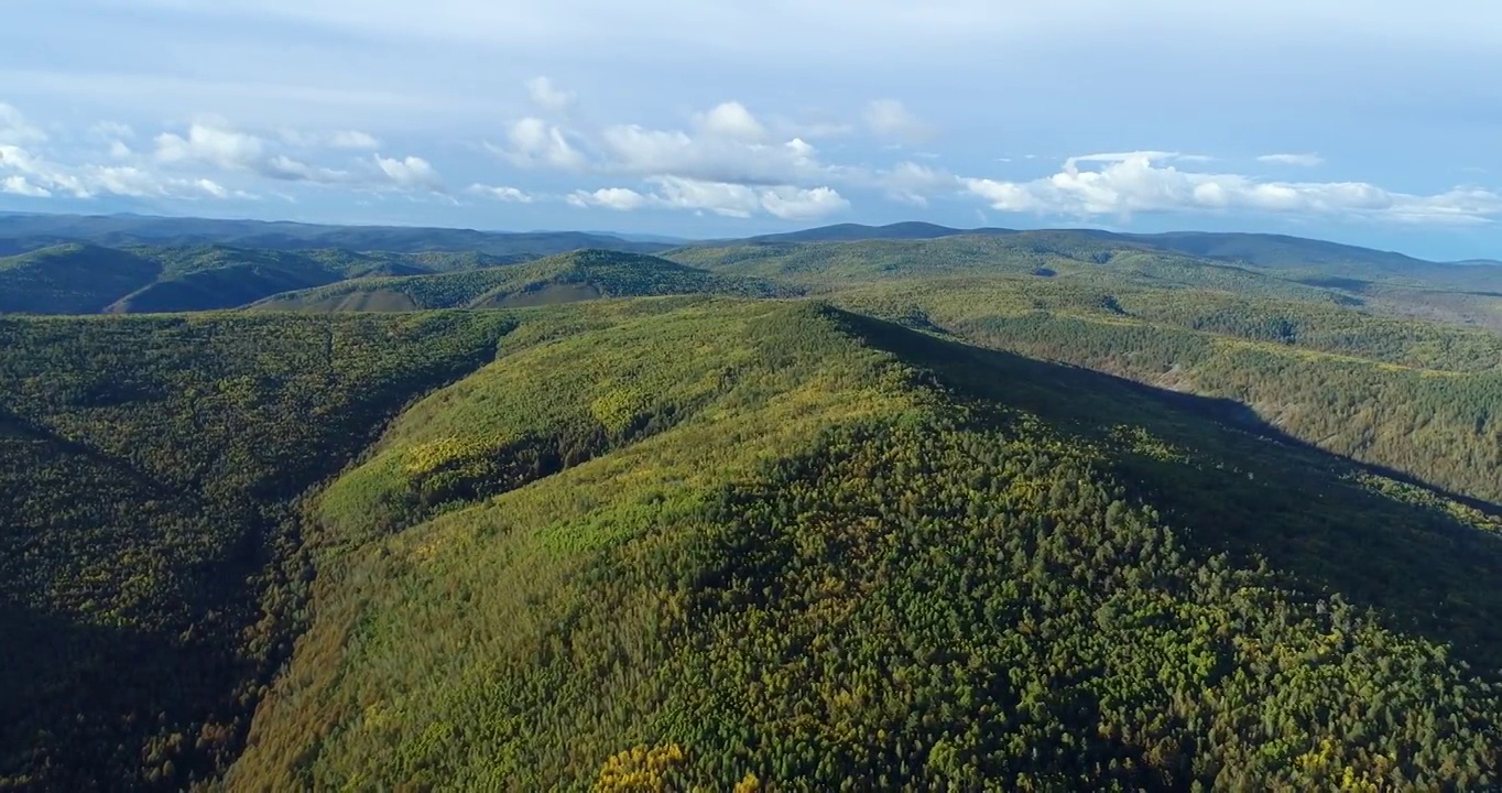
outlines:
M413 278L357 278L254 303L266 311L410 311L413 308L518 308L611 296L746 294L795 290L763 279L710 273L658 257L575 251L523 266Z

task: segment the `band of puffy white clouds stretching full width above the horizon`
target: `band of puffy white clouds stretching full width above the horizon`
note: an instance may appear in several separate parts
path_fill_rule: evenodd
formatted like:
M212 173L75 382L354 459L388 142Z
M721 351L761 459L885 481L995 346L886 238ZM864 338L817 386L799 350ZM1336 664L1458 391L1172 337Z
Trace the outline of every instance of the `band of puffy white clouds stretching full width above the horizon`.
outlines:
M1385 221L1409 225L1478 225L1502 218L1502 197L1479 186L1407 192L1359 180L1287 180L1253 176L1227 159L1172 150L1130 150L1065 158L1056 173L1029 179L963 173L868 156L840 162L811 144L814 125L765 116L725 99L685 111L679 125L628 120L583 123L580 98L545 77L523 86L538 116L497 125L493 140L470 141L491 155L494 173L469 188L446 188L434 161L386 153L372 132L351 128L281 129L275 134L203 116L156 134L110 120L83 129L50 129L0 104L0 192L45 201L101 197L251 201L281 194L275 185L321 191L401 192L454 203L461 197L512 206L566 204L583 210L688 212L728 219L769 218L811 224L891 203L933 207L970 203L972 212L1036 218L1130 219L1136 215L1238 215ZM578 116L575 116L578 111ZM900 101L859 105L859 119L819 120L831 134L864 135L858 152L886 152L883 141L931 138L933 125ZM544 117L548 116L548 117ZM859 123L855 123L859 122ZM838 141L832 152L844 149ZM909 153L907 156L925 156ZM1029 168L1023 158L990 156L990 168ZM1268 153L1250 171L1317 168L1316 153ZM1227 165L1227 167L1214 167ZM532 174L532 176L529 176ZM482 174L475 174L482 176ZM532 177L548 189L526 183ZM559 188L556 185L563 183Z

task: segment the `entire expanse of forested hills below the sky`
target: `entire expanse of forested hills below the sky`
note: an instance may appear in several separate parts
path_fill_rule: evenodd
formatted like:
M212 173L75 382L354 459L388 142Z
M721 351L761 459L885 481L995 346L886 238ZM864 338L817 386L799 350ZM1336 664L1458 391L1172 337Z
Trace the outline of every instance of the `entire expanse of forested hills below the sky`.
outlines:
M859 234L0 260L0 790L1502 785L1484 290Z

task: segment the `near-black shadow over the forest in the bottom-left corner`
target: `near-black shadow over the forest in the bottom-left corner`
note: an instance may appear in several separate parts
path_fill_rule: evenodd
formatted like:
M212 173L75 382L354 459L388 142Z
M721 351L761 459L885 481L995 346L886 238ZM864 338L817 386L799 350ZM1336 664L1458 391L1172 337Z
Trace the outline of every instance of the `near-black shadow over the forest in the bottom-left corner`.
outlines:
M0 788L182 790L237 751L230 724L243 707L228 692L251 670L222 637L87 625L9 602L0 635Z

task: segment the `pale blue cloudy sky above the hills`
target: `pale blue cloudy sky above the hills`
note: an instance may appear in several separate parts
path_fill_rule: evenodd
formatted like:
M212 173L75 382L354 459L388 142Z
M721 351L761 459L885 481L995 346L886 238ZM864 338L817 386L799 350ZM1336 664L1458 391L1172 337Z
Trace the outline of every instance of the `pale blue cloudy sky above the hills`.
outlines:
M0 210L1502 258L1502 3L6 0Z

